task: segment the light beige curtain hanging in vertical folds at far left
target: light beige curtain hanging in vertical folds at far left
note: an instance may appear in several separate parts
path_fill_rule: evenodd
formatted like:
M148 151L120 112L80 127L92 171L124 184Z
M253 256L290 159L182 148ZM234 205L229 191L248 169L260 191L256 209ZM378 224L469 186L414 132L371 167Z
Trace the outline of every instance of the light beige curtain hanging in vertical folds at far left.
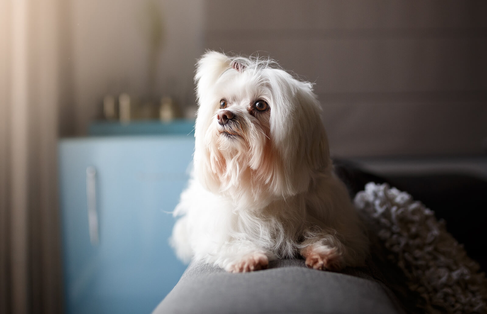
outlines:
M0 0L0 313L60 313L59 0Z

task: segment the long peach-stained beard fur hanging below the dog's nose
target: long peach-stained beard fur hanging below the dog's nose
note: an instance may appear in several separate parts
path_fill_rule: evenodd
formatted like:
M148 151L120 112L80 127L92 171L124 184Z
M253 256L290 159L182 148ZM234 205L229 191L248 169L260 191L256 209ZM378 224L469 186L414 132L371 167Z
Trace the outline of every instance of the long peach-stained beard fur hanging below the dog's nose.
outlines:
M208 187L236 203L262 207L262 195L268 194L271 188L268 184L272 162L269 128L243 110L233 110L233 113L235 118L225 127L216 127L214 123L205 135L210 170L205 175L209 179Z

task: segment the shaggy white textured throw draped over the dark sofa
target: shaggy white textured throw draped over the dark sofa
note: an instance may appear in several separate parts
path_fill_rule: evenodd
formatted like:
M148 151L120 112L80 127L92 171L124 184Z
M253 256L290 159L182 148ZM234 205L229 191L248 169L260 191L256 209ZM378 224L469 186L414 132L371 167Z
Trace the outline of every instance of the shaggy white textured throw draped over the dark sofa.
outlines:
M372 218L387 258L403 271L409 289L424 298L426 312L487 313L485 274L431 210L405 192L375 183L356 195L355 205Z

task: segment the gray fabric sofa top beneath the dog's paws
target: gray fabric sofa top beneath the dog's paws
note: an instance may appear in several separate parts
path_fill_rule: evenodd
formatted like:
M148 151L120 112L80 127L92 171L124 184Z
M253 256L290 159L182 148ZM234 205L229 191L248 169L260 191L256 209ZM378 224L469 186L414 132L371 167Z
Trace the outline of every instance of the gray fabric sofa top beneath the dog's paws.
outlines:
M230 274L189 265L154 314L403 313L370 268L342 273L308 269L302 259L272 261L269 269Z

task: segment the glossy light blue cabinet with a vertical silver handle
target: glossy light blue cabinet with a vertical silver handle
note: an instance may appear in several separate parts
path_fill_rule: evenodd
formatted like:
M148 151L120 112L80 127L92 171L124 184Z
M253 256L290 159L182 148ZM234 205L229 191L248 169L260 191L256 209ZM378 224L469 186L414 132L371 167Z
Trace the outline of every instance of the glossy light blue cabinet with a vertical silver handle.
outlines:
M58 149L66 313L150 313L186 269L168 239L193 135L61 139Z

